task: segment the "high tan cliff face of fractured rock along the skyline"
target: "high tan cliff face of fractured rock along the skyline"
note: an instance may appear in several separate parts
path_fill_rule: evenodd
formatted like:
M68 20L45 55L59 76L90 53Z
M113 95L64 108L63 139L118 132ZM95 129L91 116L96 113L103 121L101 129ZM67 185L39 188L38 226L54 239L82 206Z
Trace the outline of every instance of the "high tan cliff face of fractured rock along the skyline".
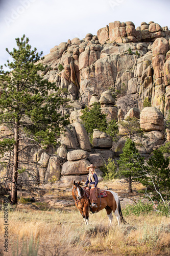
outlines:
M67 88L71 100L85 104L92 94L101 96L109 88L124 90L116 102L120 108L129 101L141 111L144 98L149 97L152 106L166 117L170 104L169 38L168 28L154 22L143 22L136 29L132 22L110 23L98 30L97 36L68 39L51 49L43 60L48 66L44 78ZM64 67L61 72L59 64Z

